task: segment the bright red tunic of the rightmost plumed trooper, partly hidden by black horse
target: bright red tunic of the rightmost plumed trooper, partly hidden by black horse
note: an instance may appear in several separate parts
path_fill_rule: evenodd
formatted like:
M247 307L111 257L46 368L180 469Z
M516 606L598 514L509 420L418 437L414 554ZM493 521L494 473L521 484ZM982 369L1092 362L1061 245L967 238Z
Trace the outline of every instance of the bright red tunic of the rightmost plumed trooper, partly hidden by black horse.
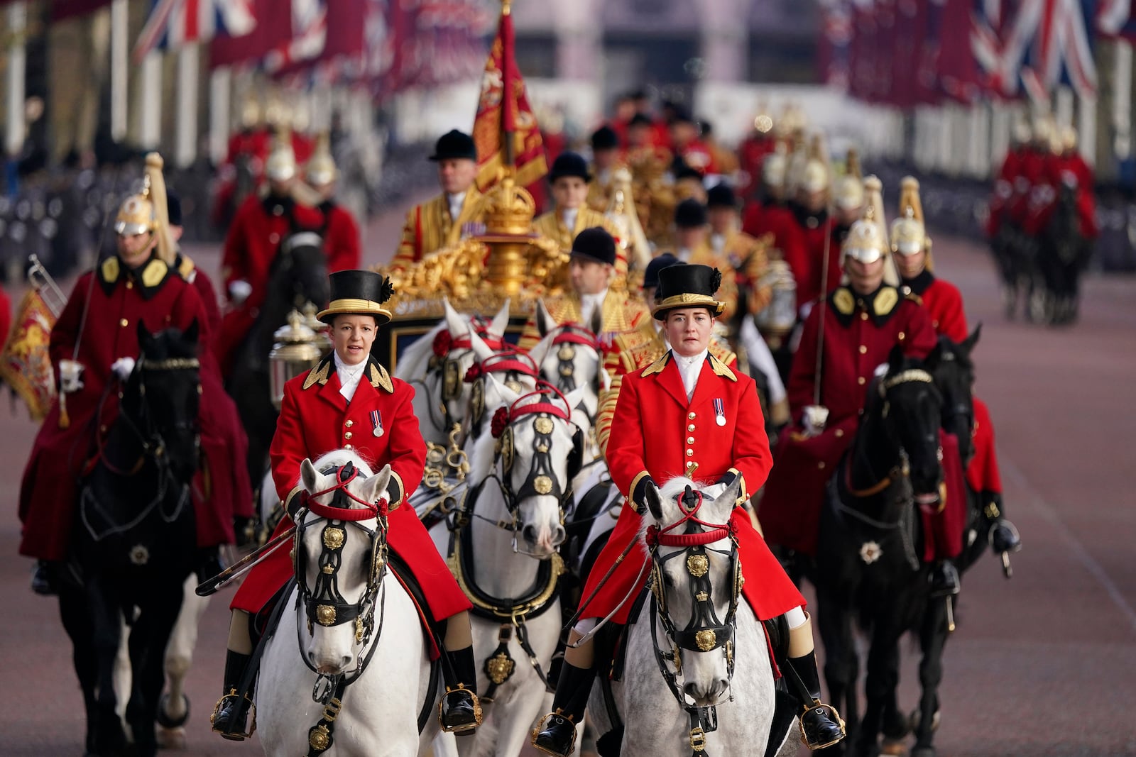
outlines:
M953 284L935 278L928 271L905 284L911 287L913 294L922 298L924 308L930 314L932 326L936 333L945 335L955 343L967 338L967 316L962 310L962 295ZM974 403L975 456L967 465L967 481L975 491L1001 494L1002 477L999 474L997 452L994 448L994 426L991 423L986 403L978 397L974 398Z

